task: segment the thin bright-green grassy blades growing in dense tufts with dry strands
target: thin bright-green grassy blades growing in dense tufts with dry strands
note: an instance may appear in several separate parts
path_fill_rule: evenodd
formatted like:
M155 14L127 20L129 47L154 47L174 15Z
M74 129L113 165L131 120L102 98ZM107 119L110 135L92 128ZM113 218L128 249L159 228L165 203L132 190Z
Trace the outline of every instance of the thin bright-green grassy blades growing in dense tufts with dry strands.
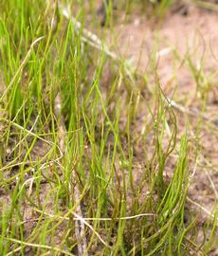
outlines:
M189 60L202 96L193 141L189 121L178 134L155 50L141 74L84 30L113 30L110 5L107 27L75 3L80 27L64 5L0 4L0 255L80 255L81 243L89 255L209 255L217 211L199 227L188 200L209 78Z

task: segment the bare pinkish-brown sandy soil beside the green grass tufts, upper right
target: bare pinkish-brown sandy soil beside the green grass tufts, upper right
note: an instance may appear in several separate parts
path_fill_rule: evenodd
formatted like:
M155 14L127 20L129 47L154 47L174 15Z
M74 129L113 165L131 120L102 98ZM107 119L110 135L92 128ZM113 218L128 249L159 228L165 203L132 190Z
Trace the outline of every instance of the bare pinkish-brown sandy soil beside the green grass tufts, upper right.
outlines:
M169 11L158 24L148 21L142 13L131 16L128 24L121 23L116 27L114 36L109 34L107 39L111 46L118 43L120 47L117 47L116 51L129 59L143 74L151 72L151 56L155 51L154 58L161 87L169 99L173 98L173 101L191 112L191 115L187 115L186 112L175 109L179 134L185 131L185 123L189 119L191 133L194 135L196 118L201 109L201 96L196 94L199 85L191 73L186 56L189 56L192 64L198 68L195 70L195 76L200 76L202 69L204 76L208 78L207 82L202 82L202 90L209 91L200 136L202 154L199 155L199 164L191 180L190 197L209 212L217 207L218 199L217 24L217 12L187 6L185 13L181 9ZM150 82L152 89L153 78ZM212 127L210 129L209 123ZM139 122L138 126L141 126ZM173 165L169 164L169 173L172 167ZM194 205L192 207L196 208ZM202 217L206 215L202 211Z

